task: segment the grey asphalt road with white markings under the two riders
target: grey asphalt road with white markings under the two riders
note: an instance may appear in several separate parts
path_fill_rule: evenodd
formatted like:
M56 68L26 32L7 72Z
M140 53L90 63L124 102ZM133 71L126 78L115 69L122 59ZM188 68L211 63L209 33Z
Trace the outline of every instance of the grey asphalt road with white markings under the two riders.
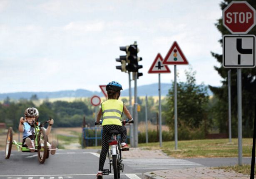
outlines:
M38 162L37 153L12 151L6 160L5 152L0 151L0 156L0 179L95 179L99 164L97 150L57 150L44 164ZM251 158L244 158L243 162L250 164ZM107 163L106 160L105 169L109 167ZM145 179L145 172L237 164L237 158L124 159L123 163L122 179ZM113 174L104 175L104 179L113 178Z

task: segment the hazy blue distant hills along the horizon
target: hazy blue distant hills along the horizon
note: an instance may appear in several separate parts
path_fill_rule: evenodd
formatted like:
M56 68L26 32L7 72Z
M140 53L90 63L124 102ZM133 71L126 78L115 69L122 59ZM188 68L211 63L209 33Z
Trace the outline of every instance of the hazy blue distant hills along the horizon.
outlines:
M171 83L162 83L161 84L161 94L166 96L168 90L171 88ZM65 90L57 92L14 92L14 93L0 93L0 100L10 97L10 99L30 99L30 97L36 94L39 99L46 98L61 98L61 97L92 97L92 95L98 95L103 97L102 92L93 92L89 90ZM212 95L212 92L208 90L208 94ZM121 92L122 96L129 96L129 89L123 90ZM150 85L142 85L138 87L138 96L158 96L158 83L153 83ZM134 88L132 88L132 96L134 96Z

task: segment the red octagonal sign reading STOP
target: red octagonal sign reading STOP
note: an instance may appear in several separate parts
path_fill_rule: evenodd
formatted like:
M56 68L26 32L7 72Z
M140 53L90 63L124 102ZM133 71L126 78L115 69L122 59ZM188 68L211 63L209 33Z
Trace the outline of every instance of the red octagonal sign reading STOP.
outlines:
M247 34L255 24L255 9L246 1L232 1L223 10L223 25L232 34Z

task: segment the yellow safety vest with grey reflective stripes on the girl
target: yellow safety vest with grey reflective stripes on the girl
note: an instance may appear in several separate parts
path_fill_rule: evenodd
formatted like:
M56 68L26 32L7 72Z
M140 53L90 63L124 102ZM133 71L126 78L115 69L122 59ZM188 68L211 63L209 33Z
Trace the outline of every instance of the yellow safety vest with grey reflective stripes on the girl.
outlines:
M122 114L124 111L124 102L118 99L108 99L101 104L103 122L105 125L122 126Z

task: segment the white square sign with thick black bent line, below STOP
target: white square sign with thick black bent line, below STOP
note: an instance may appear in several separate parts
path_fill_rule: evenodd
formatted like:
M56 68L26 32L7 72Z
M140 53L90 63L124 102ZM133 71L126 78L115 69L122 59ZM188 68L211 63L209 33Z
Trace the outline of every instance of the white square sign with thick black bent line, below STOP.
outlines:
M255 39L255 35L224 35L223 67L254 68Z

